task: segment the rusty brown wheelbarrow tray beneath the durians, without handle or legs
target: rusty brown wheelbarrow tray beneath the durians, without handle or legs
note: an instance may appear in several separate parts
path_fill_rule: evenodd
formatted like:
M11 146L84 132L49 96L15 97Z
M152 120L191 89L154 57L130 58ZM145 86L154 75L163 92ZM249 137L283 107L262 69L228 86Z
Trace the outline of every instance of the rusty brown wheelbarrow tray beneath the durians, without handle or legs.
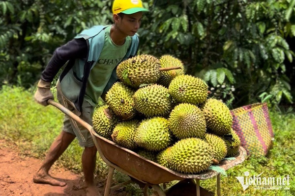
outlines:
M149 184L161 184L173 180L183 179L201 179L205 180L218 174L213 170L207 170L198 174L183 174L167 169L153 161L150 161L139 154L118 146L116 143L97 135L93 129L92 134L95 136L97 148L111 163L127 172L132 177ZM222 160L218 166L228 170L242 163L247 156L243 147L239 147L238 154L234 160Z

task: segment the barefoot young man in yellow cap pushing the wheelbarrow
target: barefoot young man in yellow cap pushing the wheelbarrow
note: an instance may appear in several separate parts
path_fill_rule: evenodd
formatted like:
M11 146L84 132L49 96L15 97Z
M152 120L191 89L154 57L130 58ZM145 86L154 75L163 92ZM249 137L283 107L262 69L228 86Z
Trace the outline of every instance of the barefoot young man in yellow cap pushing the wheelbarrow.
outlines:
M47 100L54 98L50 91L51 82L59 69L68 62L57 83L59 102L92 124L93 109L98 98L117 80L116 66L137 53L139 40L136 32L144 11L148 10L143 7L141 0L114 0L113 25L93 26L55 50L41 74L35 100L44 106L48 105ZM51 145L33 181L53 186L66 185L48 172L75 137L80 146L85 147L82 166L87 195L97 195L93 179L96 147L89 131L67 116L63 130Z

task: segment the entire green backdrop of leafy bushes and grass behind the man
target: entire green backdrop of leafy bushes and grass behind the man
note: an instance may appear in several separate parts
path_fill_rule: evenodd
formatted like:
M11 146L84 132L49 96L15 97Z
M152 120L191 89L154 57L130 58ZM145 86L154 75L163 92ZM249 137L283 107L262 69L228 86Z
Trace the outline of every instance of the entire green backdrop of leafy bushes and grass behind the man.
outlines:
M267 102L275 132L267 157L250 157L227 172L223 193L295 195L295 0L145 0L140 53L171 54L186 73L204 79L212 96L232 109ZM112 24L110 0L0 0L0 139L43 158L62 114L32 95L54 50L92 25ZM38 112L36 112L38 111ZM58 164L80 172L74 143ZM98 160L97 179L106 165ZM242 192L235 176L264 172L292 178L291 190ZM117 173L115 182L126 179ZM212 180L202 186L214 191ZM141 191L126 186L130 195Z

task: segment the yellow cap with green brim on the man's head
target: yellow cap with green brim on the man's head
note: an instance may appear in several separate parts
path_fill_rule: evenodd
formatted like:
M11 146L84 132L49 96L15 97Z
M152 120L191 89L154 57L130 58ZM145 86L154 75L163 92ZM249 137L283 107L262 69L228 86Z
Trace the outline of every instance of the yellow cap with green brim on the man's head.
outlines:
M114 0L113 14L134 14L136 12L147 12L141 0Z

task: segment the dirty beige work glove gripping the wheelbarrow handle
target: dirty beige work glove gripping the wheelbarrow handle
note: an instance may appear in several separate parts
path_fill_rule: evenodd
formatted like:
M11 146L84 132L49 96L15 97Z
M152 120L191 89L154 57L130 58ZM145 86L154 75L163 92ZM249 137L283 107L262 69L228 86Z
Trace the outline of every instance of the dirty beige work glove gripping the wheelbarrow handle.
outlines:
M37 91L34 95L35 100L37 103L41 105L47 106L48 99L54 99L52 92L50 91L50 82L45 82L44 80L40 79L37 85Z

